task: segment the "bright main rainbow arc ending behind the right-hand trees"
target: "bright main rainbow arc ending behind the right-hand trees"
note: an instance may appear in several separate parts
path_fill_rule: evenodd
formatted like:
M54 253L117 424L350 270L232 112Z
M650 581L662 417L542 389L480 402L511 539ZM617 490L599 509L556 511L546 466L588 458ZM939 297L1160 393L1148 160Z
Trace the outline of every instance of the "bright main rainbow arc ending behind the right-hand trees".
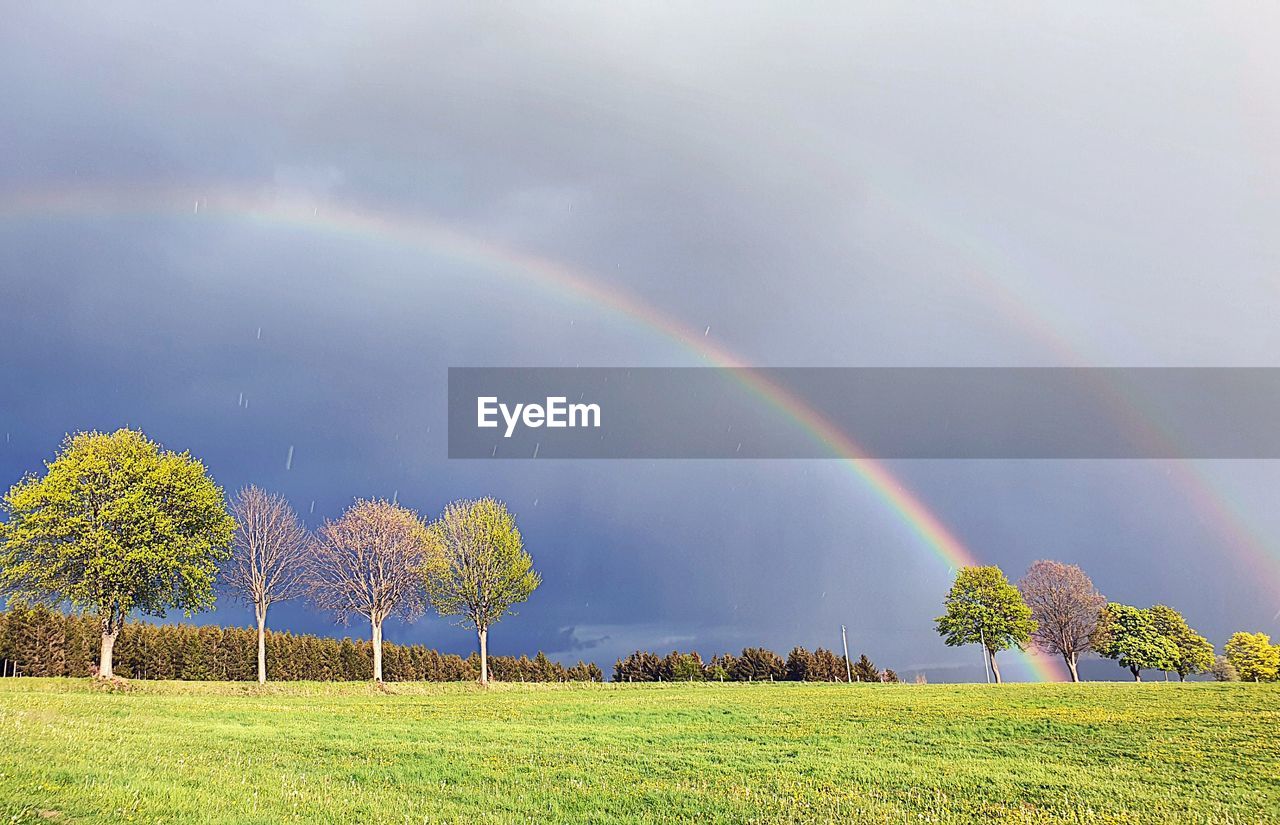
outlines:
M198 196L192 197L195 192ZM879 462L865 452L838 427L823 418L786 389L749 368L741 358L717 345L705 334L699 334L678 321L658 312L654 307L618 288L605 289L586 275L557 261L517 252L480 240L457 229L420 216L404 217L397 214L353 210L333 203L319 203L298 198L282 198L270 193L246 196L227 189L67 189L37 191L5 196L0 200L0 217L19 215L154 215L157 210L178 215L191 203L191 214L201 210L215 215L233 215L262 223L294 226L329 234L364 239L393 239L396 243L420 247L436 255L461 258L486 269L515 270L532 281L554 287L576 298L586 299L634 318L643 326L681 344L704 361L719 367L742 371L735 375L754 394L785 413L842 459L845 467L865 483L891 510L899 513L923 544L951 568L979 564L977 558L938 518L904 487ZM1027 666L1042 680L1066 678L1065 668L1048 656L1023 656Z

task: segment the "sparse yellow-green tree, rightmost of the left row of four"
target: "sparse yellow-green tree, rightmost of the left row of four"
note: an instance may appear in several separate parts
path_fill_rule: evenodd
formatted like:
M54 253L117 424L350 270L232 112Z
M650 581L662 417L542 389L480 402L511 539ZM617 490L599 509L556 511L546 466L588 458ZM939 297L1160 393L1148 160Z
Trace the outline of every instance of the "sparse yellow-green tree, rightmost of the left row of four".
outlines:
M430 528L422 565L428 599L480 640L480 683L489 684L489 628L541 583L515 517L495 499L454 501Z

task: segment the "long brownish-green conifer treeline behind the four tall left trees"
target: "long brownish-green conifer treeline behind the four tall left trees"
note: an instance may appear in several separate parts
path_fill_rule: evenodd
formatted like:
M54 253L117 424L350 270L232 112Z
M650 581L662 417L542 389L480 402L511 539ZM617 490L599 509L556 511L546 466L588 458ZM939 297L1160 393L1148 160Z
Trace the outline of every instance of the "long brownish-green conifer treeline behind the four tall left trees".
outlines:
M97 666L101 623L44 605L0 613L0 673L24 677L86 677ZM351 638L266 632L271 679L355 682L372 677L372 645ZM257 629L125 622L115 642L115 670L128 679L248 682L257 679ZM499 682L603 682L593 663L566 668L539 652L489 656ZM480 673L480 656L466 659L422 645L383 645L387 682L466 682Z

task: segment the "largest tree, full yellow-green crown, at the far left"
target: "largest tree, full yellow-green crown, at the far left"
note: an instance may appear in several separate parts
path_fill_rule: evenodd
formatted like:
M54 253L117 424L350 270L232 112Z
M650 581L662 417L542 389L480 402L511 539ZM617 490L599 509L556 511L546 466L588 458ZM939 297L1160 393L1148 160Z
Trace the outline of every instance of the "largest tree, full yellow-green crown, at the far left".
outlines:
M111 678L125 617L212 606L236 522L204 464L136 430L68 436L46 467L4 498L0 588L93 611L97 674Z

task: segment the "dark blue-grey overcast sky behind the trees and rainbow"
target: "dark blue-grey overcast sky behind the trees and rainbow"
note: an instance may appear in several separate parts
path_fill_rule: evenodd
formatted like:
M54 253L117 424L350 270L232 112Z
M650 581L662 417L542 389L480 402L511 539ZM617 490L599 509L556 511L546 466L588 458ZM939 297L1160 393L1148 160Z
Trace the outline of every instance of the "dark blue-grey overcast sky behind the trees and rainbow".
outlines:
M495 495L545 583L493 652L608 669L845 623L980 678L932 631L952 572L838 462L447 460L449 366L704 362L509 261L753 365L1280 366L1272 8L260 5L5 9L0 485L132 425L311 524ZM1074 562L1217 645L1280 633L1275 462L890 469L1011 578Z

